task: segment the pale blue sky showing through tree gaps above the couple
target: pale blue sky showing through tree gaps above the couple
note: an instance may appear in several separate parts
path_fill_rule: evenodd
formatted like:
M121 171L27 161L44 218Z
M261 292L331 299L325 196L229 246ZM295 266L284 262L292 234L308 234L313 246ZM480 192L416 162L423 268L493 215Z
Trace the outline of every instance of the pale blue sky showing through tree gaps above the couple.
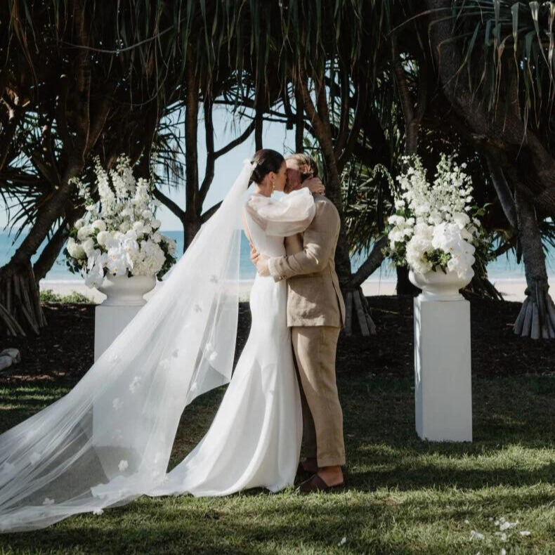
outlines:
M226 111L225 107L214 107L214 129L216 130L216 150L223 147L229 141L232 141L242 130L249 124L247 118L240 120L230 112ZM294 148L295 138L294 131L287 131L285 125L275 122L268 122L264 124L263 131L263 145L264 148L273 148L284 154L289 153ZM183 134L183 129L181 129ZM184 145L182 145L184 150ZM206 143L204 141L204 123L202 120L199 122L199 175L200 181L204 176L204 168L206 165ZM226 155L218 158L216 161L216 171L214 181L208 192L204 209L208 209L216 202L223 199L228 192L235 177L240 172L242 161L245 158L250 158L254 154L254 133L247 138L241 145L237 146ZM163 187L162 191L165 195L169 196L172 200L177 202L180 207L185 207L185 183L180 184L179 188L173 188L171 191L167 187ZM157 211L157 217L162 221L162 230L182 230L181 223L178 218L171 214L169 209L162 206ZM4 229L7 223L6 207L0 203L0 230Z

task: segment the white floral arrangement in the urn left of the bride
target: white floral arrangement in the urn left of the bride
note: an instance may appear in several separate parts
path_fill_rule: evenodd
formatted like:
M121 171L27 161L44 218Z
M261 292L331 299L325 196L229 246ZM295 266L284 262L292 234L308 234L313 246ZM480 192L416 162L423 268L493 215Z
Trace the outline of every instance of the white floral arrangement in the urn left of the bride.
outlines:
M99 287L105 275L161 278L176 262L176 242L159 233L159 202L152 197L150 181L135 179L126 155L110 171L97 157L94 174L98 202L80 178L74 179L87 214L75 222L67 240L70 271L84 275L88 287Z

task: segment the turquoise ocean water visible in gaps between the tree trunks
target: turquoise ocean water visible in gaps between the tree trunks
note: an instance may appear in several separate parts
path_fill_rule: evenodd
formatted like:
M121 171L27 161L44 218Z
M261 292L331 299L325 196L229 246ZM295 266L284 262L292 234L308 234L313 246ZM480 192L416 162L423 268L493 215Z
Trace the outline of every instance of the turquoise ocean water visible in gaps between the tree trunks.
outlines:
M177 253L181 256L183 252L183 234L180 231L162 231L164 235L171 237L177 242ZM4 266L11 256L15 252L15 249L22 242L23 236L18 238L17 242L13 242L13 235L8 235L8 233L0 233L0 266ZM46 243L45 243L46 244ZM44 244L39 248L39 252L34 256L34 260L38 258L41 250L44 248ZM351 259L351 265L353 270L356 270L364 259L362 257L355 256ZM553 276L555 279L555 250L551 249L547 253L547 273ZM240 259L240 278L242 280L252 280L256 272L252 263L250 261L250 249L247 237L242 237L241 242L241 259ZM518 279L524 277L524 266L523 264L517 264L516 258L513 253L509 252L500 256L497 260L491 262L488 265L488 275L492 280L503 280L503 279ZM79 275L73 275L67 270L65 266L65 257L63 254L58 256L58 259L54 263L51 270L46 275L47 280L81 280ZM384 261L381 268L374 272L370 276L370 280L395 280L396 273L395 269L391 268L389 261Z

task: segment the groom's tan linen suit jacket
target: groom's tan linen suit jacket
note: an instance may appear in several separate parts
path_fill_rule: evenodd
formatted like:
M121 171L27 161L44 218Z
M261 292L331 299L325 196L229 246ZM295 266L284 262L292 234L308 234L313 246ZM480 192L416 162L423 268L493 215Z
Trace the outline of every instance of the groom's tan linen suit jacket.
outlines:
M287 325L334 326L345 323L345 304L335 271L341 221L327 197L314 195L316 213L303 233L287 237L287 256L268 261L275 281L287 280Z

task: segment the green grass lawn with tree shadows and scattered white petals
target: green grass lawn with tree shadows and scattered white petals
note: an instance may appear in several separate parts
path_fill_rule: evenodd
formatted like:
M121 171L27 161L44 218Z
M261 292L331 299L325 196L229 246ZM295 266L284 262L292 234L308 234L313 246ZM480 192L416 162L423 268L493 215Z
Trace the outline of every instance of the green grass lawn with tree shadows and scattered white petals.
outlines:
M70 386L0 386L1 429ZM0 553L555 553L555 378L474 377L472 444L417 438L411 379L339 374L339 390L344 491L144 497L101 516L0 535ZM185 410L171 466L200 439L222 394L209 393ZM518 521L505 531L506 542L495 535L500 517ZM471 540L471 530L485 537Z

